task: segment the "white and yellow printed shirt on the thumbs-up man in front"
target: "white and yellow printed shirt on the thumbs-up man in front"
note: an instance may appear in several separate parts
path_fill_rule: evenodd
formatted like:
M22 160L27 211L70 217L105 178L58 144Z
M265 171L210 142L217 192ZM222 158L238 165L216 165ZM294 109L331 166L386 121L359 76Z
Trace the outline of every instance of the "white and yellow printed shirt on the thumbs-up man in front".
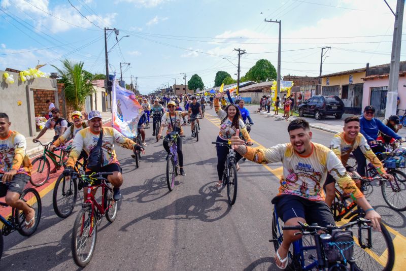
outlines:
M260 164L282 162L283 175L278 195L296 195L310 200L324 200L323 185L329 173L351 198L363 196L348 176L340 159L329 148L312 143L312 153L303 157L293 150L290 143L270 148L247 146L247 159Z

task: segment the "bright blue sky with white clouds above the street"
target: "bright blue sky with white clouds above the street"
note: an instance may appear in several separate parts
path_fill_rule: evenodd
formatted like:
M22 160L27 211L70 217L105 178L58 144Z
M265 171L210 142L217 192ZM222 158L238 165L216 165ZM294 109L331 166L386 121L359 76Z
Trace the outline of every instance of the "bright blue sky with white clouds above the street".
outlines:
M246 50L241 76L261 58L277 67L279 25L264 19L281 20L282 77L318 76L324 46L323 74L390 62L395 17L384 0L0 0L0 70L55 72L67 58L105 74L108 27L119 29L108 31L110 74L129 62L123 80L137 77L142 93L183 82L181 73L212 87L217 71L236 79L234 49Z

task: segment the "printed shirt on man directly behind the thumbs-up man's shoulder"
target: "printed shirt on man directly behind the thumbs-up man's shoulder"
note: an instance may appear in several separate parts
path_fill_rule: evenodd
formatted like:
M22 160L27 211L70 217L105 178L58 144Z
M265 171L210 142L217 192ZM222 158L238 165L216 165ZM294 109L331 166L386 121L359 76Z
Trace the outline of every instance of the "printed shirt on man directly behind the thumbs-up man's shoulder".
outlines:
M374 165L379 174L382 175L386 173L381 161L371 150L368 143L366 142L365 137L362 136L362 133L358 133L353 143L347 142L344 136L344 131L334 134L330 145L330 149L335 153L337 157L339 157L343 165L347 165L347 160L351 152L359 147L365 158Z

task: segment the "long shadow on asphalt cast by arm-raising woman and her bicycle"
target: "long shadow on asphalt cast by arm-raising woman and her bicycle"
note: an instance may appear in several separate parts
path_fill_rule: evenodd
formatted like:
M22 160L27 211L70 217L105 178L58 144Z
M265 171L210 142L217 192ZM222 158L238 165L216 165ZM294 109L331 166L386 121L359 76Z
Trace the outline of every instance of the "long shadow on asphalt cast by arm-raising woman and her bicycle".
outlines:
M165 184L166 185L166 184ZM199 219L204 222L213 222L225 217L231 210L227 199L223 199L221 191L214 187L215 182L207 183L199 189L198 195L184 196L176 199L154 212L138 217L123 225L120 230L127 228L144 219ZM124 189L123 189L124 190ZM167 194L167 193L166 193Z

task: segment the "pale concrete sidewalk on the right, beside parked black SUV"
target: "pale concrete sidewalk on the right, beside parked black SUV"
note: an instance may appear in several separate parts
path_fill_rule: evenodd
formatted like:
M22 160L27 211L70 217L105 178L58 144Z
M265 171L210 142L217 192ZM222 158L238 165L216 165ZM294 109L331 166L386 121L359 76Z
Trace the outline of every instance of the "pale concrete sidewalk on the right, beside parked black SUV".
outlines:
M275 118L279 118L279 119L284 119L282 117L283 115L281 115L281 114L274 115L273 113L267 113L264 111L261 111L260 113L263 115L267 115L267 116L271 116L271 117L275 117ZM353 115L344 114L341 119L335 119L334 117L330 117L330 116L323 117L321 120L316 120L315 118L308 117L308 116L303 117L303 119L306 119L310 123L310 127L312 127L312 128L331 132L331 133L337 133L337 132L343 131L344 119L349 116L353 116ZM361 116L358 116L358 117L361 117ZM292 117L289 117L288 121L292 121L297 118L298 117L292 116ZM405 138L406 137L406 127L400 129L398 134L402 138Z

